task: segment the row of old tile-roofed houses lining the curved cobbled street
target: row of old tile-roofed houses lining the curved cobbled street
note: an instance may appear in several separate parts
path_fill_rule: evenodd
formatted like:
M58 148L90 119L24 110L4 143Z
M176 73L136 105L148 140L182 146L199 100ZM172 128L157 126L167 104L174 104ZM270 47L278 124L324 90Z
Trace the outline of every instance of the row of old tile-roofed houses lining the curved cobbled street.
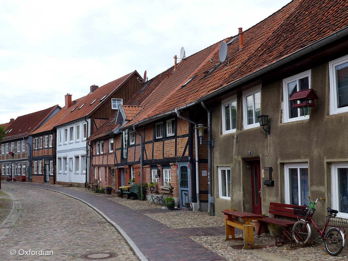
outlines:
M170 183L179 207L212 215L310 195L326 198L322 215L348 217L347 11L294 0L150 80L134 71L18 117L1 143L2 180Z

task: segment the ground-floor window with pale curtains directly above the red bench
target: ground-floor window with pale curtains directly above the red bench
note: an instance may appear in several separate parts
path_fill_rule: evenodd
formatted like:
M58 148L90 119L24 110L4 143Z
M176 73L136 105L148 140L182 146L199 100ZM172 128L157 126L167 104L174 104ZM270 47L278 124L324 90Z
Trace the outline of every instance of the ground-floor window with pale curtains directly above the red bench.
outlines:
M308 205L308 163L284 164L284 179L285 203L300 206Z

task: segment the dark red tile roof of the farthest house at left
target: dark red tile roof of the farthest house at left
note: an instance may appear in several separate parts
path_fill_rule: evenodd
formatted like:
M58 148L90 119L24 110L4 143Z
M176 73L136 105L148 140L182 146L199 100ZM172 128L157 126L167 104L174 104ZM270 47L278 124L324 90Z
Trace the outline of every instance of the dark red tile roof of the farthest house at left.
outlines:
M4 141L30 135L57 107L59 107L59 105L17 117L10 125L9 130L11 131L5 134Z

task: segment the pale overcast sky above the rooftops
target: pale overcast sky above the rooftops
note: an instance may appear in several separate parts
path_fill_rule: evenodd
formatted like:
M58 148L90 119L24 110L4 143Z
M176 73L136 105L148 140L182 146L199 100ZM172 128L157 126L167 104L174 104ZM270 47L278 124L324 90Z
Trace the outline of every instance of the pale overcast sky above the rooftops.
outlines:
M127 73L149 79L291 0L0 0L0 123Z

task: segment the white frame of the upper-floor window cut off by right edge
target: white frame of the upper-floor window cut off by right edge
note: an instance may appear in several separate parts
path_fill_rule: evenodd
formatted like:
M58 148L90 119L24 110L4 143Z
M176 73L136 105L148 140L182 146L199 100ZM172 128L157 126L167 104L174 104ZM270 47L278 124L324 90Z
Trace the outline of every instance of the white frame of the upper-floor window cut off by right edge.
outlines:
M342 56L336 60L329 62L329 79L330 79L330 114L348 112L348 106L338 108L337 95L337 74L335 67L348 62L348 55Z

